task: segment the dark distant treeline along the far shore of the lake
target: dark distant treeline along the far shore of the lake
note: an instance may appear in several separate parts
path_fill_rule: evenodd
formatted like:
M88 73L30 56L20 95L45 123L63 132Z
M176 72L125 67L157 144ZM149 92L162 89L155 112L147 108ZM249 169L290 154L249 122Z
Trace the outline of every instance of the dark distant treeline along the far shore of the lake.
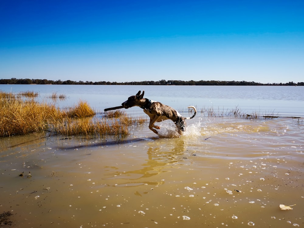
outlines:
M110 82L110 81L61 81L47 79L0 79L0 84L39 84L39 85L304 85L304 82L294 83L259 83L254 81L181 81L181 80L160 80L160 81L131 81L131 82Z

